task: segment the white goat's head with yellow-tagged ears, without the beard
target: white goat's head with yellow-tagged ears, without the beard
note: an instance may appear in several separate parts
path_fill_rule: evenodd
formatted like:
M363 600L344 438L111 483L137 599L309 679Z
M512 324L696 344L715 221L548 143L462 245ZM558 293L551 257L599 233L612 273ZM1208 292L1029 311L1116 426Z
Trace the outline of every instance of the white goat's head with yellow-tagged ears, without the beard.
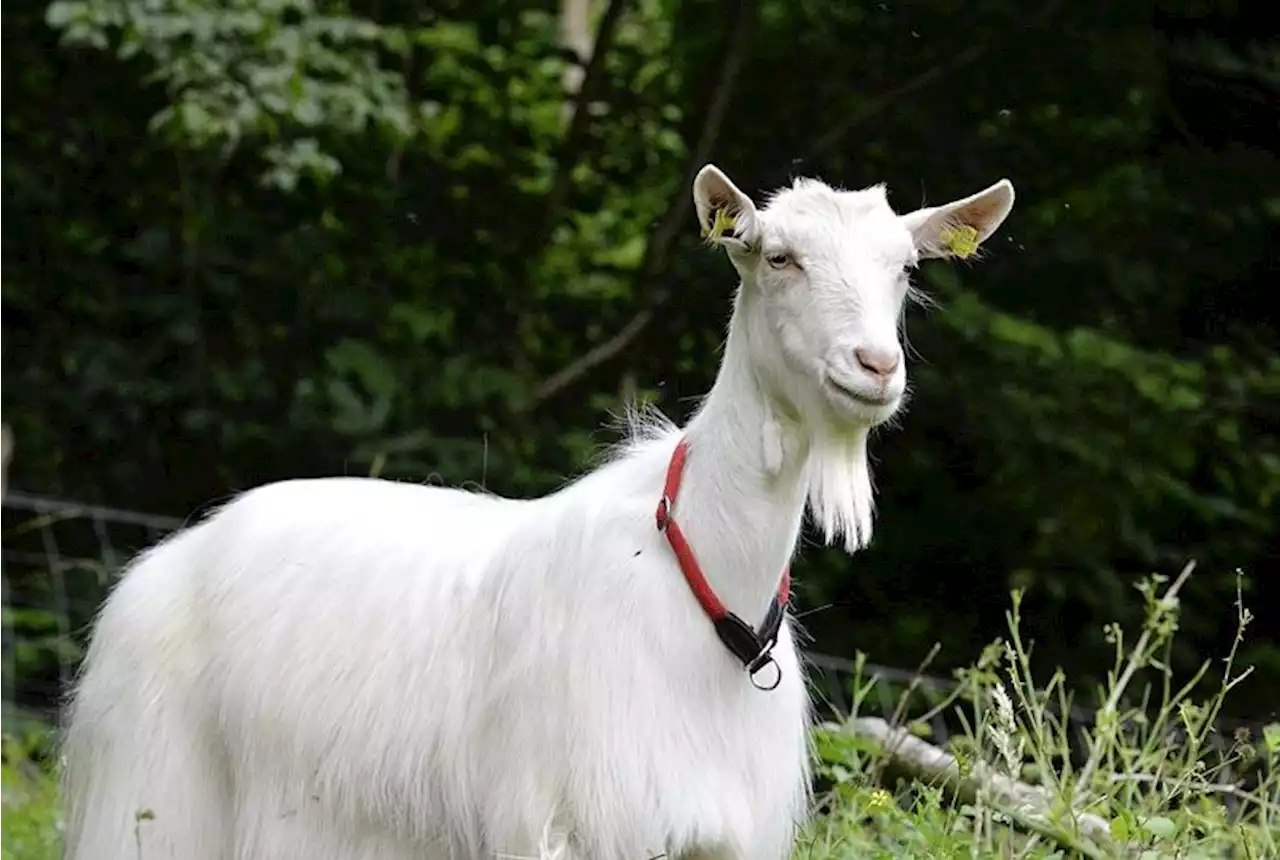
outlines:
M922 259L965 257L1009 215L1014 187L897 215L884 187L838 191L797 179L756 209L721 170L694 180L703 234L742 278L751 360L771 394L801 413L874 426L906 390L900 342Z

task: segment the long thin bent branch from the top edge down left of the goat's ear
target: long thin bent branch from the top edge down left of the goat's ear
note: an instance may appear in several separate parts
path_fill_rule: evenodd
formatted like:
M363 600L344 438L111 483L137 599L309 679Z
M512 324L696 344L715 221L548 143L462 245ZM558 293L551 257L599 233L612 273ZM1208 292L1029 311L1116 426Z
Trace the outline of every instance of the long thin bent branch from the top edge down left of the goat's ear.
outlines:
M653 237L645 244L644 257L636 269L635 283L637 288L660 280L667 271L671 250L675 247L681 229L684 229L685 218L689 215L691 207L689 187L692 184L694 177L698 175L698 170L710 159L710 154L716 148L716 142L719 139L719 133L724 124L724 115L728 113L728 106L733 100L737 76L746 61L748 47L755 29L756 10L758 0L741 0L737 5L737 17L733 20L733 31L728 37L724 59L721 63L712 102L707 109L707 119L703 122L698 142L689 152L685 171L680 186L676 188L676 195L671 203L668 203L667 211L663 214L657 229L654 229ZM626 349L631 342L640 337L640 333L644 331L649 322L653 321L654 312L669 298L671 291L668 288L660 287L654 289L644 303L644 307L636 311L635 316L617 334L548 376L534 390L531 402L526 408L532 408L556 397L590 370Z

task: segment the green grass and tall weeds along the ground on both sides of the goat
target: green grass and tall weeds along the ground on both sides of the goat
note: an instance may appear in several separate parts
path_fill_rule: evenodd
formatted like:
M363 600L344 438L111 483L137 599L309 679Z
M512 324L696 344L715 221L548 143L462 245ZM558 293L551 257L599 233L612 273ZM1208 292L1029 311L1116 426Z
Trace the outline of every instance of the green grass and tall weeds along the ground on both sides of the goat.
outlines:
M815 729L819 814L794 860L1280 857L1280 726L1261 737L1216 728L1249 673L1235 660L1252 621L1239 593L1230 653L1181 683L1167 668L1189 575L1139 585L1140 630L1107 627L1115 664L1087 724L1065 717L1060 672L1033 680L1020 593L1009 633L959 673L947 701L910 718L905 694L896 717L906 731L868 733L895 729L856 713L873 687L856 680L850 719ZM945 750L923 742L936 713L963 728ZM0 860L58 856L56 787L31 749L0 742Z

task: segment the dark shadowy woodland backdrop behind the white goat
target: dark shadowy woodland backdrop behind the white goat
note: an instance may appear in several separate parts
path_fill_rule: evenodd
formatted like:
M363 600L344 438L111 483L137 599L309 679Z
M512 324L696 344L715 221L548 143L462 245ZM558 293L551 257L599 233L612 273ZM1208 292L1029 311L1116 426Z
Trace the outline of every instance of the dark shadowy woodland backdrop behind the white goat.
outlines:
M710 384L733 283L690 218L701 164L753 195L886 182L900 211L1009 177L987 257L922 274L874 545L796 566L814 648L941 642L941 672L1024 586L1038 664L1085 685L1133 584L1196 559L1178 669L1230 644L1239 581L1258 672L1229 706L1276 708L1266 4L594 0L572 123L568 5L0 13L10 486L175 517L343 472L541 493L622 398L684 417ZM15 641L45 641L47 571L8 578Z

